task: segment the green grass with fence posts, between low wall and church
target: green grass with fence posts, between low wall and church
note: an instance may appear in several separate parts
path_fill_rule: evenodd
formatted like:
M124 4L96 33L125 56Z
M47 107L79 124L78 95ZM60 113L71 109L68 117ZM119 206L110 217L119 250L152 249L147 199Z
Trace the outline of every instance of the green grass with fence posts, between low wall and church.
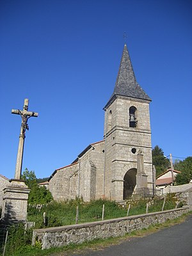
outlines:
M129 216L144 214L148 200L131 201ZM121 218L127 216L127 207L122 207L116 202L109 200L94 200L89 203L82 200L69 200L65 202L51 202L44 205L39 211L33 206L28 207L28 221L35 221L35 228L58 227L63 225L72 225L76 223L76 208L79 206L78 223L100 221L102 220L102 205L104 208L104 220ZM173 196L167 198L164 210L175 208L175 199ZM163 198L154 198L152 204L148 207L148 212L161 211ZM43 214L46 213L47 224L44 225Z

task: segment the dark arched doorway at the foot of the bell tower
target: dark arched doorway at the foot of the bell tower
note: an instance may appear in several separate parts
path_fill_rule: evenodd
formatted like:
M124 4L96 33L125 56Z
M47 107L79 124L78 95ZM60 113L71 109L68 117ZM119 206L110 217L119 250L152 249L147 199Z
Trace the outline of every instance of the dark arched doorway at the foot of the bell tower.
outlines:
M136 168L132 168L125 173L124 176L124 200L132 196L134 187L136 186Z

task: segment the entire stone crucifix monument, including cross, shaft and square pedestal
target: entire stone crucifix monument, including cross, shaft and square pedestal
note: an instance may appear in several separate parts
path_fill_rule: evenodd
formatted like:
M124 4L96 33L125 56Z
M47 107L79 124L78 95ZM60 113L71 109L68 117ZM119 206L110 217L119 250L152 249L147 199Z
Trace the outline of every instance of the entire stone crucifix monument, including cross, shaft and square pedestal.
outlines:
M29 100L24 100L23 110L12 109L13 114L20 115L22 123L19 135L19 147L17 153L17 163L15 168L15 179L10 180L10 184L4 188L2 219L6 223L14 223L18 221L26 222L27 220L27 207L28 207L28 194L30 189L21 180L22 171L22 157L24 150L24 139L26 138L26 129L29 129L28 119L31 116L38 116L38 113L28 111Z

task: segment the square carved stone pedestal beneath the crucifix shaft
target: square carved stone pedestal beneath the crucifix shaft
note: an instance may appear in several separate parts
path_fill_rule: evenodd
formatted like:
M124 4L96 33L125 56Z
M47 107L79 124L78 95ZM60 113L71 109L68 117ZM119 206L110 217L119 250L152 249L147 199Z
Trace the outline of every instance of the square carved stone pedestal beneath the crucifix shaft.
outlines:
M7 223L26 222L30 189L24 180L10 180L10 184L3 191L2 220Z

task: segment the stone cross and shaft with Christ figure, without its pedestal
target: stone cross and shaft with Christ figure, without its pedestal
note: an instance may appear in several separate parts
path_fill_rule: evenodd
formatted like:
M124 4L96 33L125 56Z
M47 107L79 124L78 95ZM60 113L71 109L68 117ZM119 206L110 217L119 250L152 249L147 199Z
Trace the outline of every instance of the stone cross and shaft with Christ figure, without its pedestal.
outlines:
M22 171L22 157L23 157L23 149L24 149L24 140L26 138L26 130L29 130L28 119L31 116L37 117L38 113L28 111L29 100L24 99L24 107L23 110L12 109L12 114L20 115L22 118L21 127L20 127L20 135L19 135L19 147L17 152L17 162L15 168L15 179L20 180L20 175Z

